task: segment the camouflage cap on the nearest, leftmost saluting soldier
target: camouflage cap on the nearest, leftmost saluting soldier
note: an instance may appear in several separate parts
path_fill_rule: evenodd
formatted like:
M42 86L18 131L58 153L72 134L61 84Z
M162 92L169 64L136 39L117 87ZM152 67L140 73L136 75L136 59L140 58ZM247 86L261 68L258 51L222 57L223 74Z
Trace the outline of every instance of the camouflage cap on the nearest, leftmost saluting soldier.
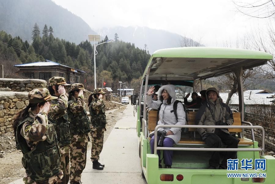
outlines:
M29 103L41 103L52 99L57 99L57 96L51 96L47 88L34 89L28 94Z

